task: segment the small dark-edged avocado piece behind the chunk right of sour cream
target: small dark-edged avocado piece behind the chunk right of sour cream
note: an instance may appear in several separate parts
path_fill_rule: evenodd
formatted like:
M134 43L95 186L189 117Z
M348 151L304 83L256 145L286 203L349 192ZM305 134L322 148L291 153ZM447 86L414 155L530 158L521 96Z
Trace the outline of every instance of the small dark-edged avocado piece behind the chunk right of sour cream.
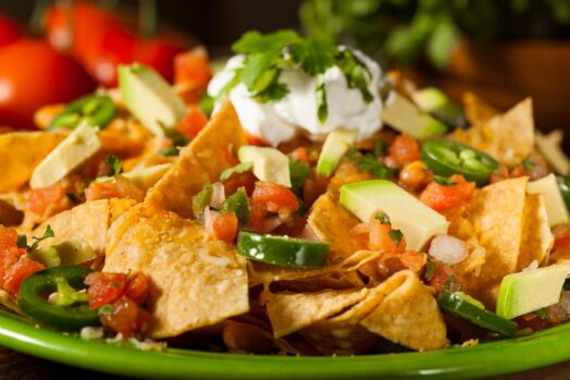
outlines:
M429 112L450 125L463 125L463 110L444 91L436 87L426 87L411 95L420 109Z

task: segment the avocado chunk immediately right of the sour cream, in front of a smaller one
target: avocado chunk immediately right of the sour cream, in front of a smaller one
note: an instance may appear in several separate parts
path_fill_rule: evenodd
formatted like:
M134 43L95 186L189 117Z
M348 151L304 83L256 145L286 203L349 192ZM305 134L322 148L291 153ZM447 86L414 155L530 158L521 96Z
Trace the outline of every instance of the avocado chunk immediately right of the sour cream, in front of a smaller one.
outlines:
M439 136L447 132L444 123L420 110L398 93L388 96L381 118L382 122L393 128L419 139Z

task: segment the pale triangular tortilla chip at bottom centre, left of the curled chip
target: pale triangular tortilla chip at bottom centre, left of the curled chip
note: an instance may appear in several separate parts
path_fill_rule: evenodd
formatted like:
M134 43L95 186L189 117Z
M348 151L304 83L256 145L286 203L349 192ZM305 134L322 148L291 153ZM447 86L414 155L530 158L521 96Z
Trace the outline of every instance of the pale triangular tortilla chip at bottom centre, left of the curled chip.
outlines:
M324 320L368 295L368 289L322 291L317 293L270 293L267 312L273 335L281 338Z

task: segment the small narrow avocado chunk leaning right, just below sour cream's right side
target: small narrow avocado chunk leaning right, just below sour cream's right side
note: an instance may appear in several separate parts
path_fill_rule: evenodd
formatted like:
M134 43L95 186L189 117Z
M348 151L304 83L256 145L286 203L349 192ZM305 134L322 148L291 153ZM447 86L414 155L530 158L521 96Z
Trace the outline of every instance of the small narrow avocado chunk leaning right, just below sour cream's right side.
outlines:
M331 176L343 156L355 145L356 135L356 131L335 130L331 132L319 156L317 173L326 177Z

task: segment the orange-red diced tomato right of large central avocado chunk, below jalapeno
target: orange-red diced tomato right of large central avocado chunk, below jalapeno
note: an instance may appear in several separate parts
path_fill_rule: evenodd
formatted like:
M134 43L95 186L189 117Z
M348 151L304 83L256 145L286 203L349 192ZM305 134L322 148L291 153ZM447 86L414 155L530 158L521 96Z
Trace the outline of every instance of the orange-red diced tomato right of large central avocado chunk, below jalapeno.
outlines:
M462 175L454 174L450 177L454 185L441 185L435 181L430 183L420 195L420 199L436 211L443 211L471 199L475 191L475 183L468 182Z

